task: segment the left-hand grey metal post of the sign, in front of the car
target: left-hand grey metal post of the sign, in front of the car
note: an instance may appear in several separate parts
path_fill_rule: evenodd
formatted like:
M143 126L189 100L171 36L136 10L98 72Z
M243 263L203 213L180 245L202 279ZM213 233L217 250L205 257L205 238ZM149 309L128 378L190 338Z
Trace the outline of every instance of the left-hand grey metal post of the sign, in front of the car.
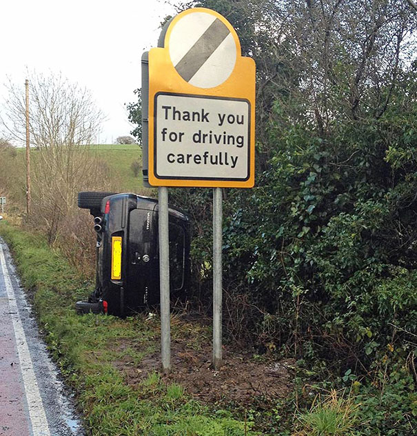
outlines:
M161 357L164 374L171 371L170 244L168 233L168 188L159 192L159 288L161 293Z

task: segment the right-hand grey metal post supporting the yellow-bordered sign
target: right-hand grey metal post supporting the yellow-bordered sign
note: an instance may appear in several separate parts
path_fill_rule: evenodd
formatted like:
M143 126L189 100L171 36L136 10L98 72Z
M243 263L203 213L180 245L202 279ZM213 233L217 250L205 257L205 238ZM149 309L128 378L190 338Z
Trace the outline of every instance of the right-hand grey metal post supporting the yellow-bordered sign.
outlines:
M218 370L221 368L222 355L222 190L213 189L213 366Z

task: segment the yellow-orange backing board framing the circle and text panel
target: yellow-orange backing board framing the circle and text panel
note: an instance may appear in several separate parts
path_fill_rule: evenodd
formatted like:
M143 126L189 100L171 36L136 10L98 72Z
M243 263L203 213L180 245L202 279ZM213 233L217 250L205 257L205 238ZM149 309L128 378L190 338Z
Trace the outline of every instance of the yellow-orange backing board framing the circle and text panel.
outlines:
M236 43L236 64L230 77L214 88L199 88L185 81L170 59L170 34L176 22L185 14L205 12L214 15L230 30ZM232 25L218 12L207 8L188 9L172 19L165 34L165 47L152 48L149 52L149 141L148 141L148 175L152 186L189 186L207 188L252 188L254 186L255 169L255 62L249 57L241 57L241 43ZM225 99L246 99L251 106L250 119L250 171L245 181L232 180L199 180L199 179L159 179L154 173L154 101L158 93L203 95Z

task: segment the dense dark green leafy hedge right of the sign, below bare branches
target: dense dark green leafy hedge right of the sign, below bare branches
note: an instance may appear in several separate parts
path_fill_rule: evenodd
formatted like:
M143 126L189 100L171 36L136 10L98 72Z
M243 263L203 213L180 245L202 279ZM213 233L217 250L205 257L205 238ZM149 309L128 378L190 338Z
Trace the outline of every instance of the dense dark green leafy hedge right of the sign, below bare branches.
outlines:
M323 138L308 123L281 124L277 103L268 170L256 188L225 195L232 336L324 359L343 373L366 371L387 346L416 348L407 332L417 328L417 106L401 108L344 120ZM210 195L188 192L174 199L198 219L194 274L200 294L210 295ZM245 327L236 330L228 315Z

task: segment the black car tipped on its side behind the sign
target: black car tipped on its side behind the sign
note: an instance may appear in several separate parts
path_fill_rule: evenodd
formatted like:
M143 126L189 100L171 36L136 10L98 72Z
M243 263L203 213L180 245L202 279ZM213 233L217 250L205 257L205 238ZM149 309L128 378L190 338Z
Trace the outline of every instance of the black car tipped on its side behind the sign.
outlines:
M79 192L96 230L96 288L79 313L125 317L159 304L158 201L132 193ZM170 292L187 293L190 230L187 215L169 209Z

